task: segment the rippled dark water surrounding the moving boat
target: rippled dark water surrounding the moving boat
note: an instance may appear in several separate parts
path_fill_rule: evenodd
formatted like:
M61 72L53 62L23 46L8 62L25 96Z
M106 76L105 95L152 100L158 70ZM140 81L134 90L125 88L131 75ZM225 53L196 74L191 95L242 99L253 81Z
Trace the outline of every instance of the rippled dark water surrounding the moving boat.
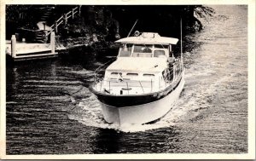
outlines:
M108 57L80 49L7 66L7 154L247 152L247 7L213 8L205 29L186 37L180 99L154 124L104 121L88 86Z

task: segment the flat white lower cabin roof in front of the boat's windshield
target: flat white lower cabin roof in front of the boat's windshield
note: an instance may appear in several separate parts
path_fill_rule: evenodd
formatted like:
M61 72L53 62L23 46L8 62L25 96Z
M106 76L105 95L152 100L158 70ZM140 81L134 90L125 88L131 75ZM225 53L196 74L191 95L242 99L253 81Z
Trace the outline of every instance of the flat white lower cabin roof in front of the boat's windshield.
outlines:
M158 73L166 68L166 58L119 57L107 71Z

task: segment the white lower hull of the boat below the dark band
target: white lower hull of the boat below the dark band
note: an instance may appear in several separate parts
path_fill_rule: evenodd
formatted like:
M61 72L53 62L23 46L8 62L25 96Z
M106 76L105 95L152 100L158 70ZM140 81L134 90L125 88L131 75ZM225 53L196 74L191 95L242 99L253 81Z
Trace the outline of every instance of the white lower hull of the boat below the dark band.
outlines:
M102 113L108 123L118 124L145 124L157 120L166 115L172 105L179 97L184 85L184 78L181 79L177 88L169 95L158 100L139 106L108 106L101 102Z

